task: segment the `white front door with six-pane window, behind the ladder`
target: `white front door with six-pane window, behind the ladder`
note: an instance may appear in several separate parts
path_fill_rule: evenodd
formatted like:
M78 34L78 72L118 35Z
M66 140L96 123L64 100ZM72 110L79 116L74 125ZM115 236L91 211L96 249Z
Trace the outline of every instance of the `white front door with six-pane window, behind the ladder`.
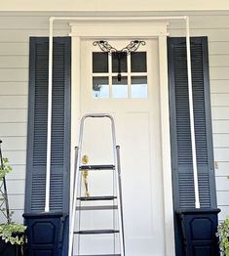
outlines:
M162 256L165 222L158 40L145 40L144 46L123 60L121 82L117 79L117 60L102 53L94 41L81 41L80 115L105 112L115 119L117 143L121 147L126 255ZM108 42L122 49L130 40ZM108 121L86 122L83 154L89 156L90 164L112 163ZM91 172L90 194L112 193L111 178L107 171ZM82 212L81 228L110 229L107 226L112 225L112 215L107 217L108 214ZM112 253L113 237L83 239L81 253Z

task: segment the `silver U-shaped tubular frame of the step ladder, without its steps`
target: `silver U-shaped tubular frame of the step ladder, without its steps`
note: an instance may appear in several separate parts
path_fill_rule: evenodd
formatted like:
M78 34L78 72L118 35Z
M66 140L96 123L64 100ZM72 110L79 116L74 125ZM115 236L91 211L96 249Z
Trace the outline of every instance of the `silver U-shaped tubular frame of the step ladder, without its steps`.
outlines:
M113 144L113 156L114 156L114 164L115 164L115 175L116 175L116 188L117 188L117 204L118 204L118 219L120 226L120 250L121 256L125 256L125 246L124 246L124 227L123 227L123 207L122 207L122 187L121 187L121 172L120 172L120 156L119 149L116 146L116 133L115 133L115 123L112 115L108 113L88 113L85 114L80 123L80 132L79 132L79 143L78 148L75 150L75 171L74 171L74 189L73 189L73 203L70 208L70 228L69 228L69 246L68 246L68 256L72 256L73 252L73 236L74 236L74 220L76 215L76 201L77 201L77 185L80 179L80 159L81 159L81 150L84 136L84 123L87 118L109 118L111 122L111 131L112 131L112 144Z

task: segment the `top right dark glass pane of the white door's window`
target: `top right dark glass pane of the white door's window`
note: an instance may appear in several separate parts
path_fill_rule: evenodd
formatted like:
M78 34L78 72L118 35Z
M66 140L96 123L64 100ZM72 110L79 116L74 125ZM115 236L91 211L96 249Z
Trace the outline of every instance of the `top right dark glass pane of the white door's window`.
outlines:
M135 52L131 54L132 72L147 72L146 52Z

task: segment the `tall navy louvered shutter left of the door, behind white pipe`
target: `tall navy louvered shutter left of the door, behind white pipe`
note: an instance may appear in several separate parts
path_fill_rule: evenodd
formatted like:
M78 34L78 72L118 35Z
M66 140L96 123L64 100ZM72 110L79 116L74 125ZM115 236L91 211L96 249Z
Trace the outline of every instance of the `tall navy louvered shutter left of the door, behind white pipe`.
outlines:
M25 211L45 207L49 39L30 38ZM70 172L69 37L54 38L51 210L68 212Z

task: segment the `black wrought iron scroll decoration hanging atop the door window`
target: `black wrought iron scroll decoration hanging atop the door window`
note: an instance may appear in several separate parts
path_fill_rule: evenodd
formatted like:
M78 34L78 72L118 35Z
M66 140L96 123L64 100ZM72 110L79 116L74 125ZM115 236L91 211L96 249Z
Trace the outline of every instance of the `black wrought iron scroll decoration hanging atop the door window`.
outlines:
M111 46L107 41L104 41L104 40L95 41L93 43L93 45L94 46L97 45L102 52L106 52L108 53L108 55L111 55L113 56L113 58L118 60L118 81L119 82L122 79L122 75L121 75L122 59L126 58L126 56L130 55L132 52L135 52L140 45L144 46L145 44L146 44L145 41L134 40L134 41L131 41L130 44L124 47L123 49L117 50L116 48Z

